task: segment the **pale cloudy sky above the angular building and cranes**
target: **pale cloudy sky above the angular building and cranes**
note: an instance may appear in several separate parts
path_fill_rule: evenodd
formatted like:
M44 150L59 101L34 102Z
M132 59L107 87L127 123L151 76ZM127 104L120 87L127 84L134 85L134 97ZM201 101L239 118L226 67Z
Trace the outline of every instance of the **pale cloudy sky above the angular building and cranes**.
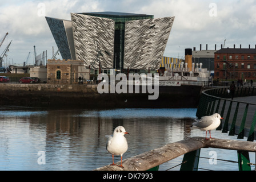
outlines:
M163 56L181 58L186 48L217 49L225 47L255 48L256 0L0 0L0 54L11 42L3 65L28 64L37 54L47 50L47 59L57 45L45 16L71 20L70 13L115 11L154 15L154 18L175 16ZM58 59L62 59L59 55Z

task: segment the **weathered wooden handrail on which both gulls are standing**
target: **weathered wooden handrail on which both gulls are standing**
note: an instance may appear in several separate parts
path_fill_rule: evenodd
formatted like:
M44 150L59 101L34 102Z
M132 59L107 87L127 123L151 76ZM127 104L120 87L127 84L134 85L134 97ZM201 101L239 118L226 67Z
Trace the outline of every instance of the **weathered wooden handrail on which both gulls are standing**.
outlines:
M190 154L194 151L200 150L201 148L209 147L222 148L226 150L237 150L239 152L256 152L256 143L254 142L226 139L206 140L202 137L192 137L181 140L179 142L166 144L161 148L157 148L132 158L125 159L122 162L124 168L108 165L95 169L95 171L146 171L159 166L160 164L166 163L169 160L175 159L178 156ZM119 163L120 162L117 164ZM184 161L183 163L186 162Z

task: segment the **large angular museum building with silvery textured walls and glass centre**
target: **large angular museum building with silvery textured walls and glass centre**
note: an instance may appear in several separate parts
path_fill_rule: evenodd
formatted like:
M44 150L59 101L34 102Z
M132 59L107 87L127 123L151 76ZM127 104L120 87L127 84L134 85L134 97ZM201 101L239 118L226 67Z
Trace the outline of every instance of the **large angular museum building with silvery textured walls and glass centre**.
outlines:
M71 13L71 20L46 17L63 59L93 69L157 70L174 17L95 12Z

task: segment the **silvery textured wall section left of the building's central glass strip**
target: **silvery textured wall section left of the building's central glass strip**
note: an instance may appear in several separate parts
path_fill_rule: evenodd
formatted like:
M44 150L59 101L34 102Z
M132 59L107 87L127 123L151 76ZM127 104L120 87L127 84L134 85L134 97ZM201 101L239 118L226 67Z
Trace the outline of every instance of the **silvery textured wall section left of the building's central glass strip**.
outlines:
M75 56L85 61L86 66L99 68L95 61L97 50L101 50L101 68L111 69L114 63L115 22L111 19L71 13ZM93 64L95 61L95 64Z

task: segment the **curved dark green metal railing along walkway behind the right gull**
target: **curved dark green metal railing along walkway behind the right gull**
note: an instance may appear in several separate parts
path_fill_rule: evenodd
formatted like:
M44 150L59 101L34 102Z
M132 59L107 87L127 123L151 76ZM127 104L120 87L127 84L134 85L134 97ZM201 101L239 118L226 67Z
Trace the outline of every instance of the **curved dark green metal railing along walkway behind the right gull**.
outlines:
M217 130L222 130L222 133L230 131L229 135L237 134L238 139L247 137L247 141L253 141L256 136L256 104L239 101L235 97L256 96L256 88L236 88L234 100L230 99L228 89L224 87L204 90L199 101L197 118L219 113L224 119Z

